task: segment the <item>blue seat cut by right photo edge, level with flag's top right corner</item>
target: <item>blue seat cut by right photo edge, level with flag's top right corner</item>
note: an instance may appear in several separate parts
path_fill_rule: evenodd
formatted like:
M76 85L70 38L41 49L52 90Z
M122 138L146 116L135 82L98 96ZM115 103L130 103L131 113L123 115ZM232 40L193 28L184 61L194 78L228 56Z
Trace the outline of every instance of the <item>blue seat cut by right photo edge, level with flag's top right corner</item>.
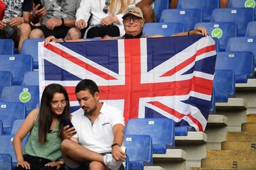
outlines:
M232 37L227 41L226 51L251 51L256 56L256 37ZM254 67L256 67L256 57Z

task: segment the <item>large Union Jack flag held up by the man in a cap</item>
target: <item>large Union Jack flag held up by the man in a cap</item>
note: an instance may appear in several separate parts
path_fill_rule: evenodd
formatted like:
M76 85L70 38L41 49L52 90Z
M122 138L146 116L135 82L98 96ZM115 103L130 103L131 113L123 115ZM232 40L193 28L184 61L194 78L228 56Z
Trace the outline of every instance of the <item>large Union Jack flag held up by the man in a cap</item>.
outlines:
M168 117L204 131L215 60L215 41L208 36L39 43L39 88L65 86L74 110L75 86L92 79L100 100L124 110L126 122Z

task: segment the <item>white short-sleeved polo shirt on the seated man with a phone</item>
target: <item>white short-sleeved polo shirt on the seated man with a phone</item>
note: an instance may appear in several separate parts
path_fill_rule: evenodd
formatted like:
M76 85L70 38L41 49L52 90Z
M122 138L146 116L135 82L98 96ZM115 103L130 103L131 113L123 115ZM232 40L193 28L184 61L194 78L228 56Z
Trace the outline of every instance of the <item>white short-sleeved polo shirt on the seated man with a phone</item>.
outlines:
M112 152L113 126L124 125L124 116L118 108L103 103L98 119L93 124L82 109L72 114L71 122L77 131L73 137L78 137L81 146L94 152L106 153Z

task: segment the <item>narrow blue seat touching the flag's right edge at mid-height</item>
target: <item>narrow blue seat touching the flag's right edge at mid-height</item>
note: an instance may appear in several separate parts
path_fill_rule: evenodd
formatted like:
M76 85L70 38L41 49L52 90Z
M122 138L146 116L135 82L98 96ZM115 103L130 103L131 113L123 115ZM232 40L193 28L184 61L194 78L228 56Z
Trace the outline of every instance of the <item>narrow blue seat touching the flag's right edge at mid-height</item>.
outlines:
M232 70L215 70L213 80L216 102L227 102L236 97L235 76Z

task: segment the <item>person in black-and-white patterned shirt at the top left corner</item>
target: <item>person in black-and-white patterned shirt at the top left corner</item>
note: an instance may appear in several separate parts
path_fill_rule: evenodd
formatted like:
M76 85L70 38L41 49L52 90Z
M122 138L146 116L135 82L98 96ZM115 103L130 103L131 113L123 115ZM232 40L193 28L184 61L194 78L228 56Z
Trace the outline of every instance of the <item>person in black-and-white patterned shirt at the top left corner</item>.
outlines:
M9 1L5 3L5 14L0 21L0 39L13 39L18 46L18 53L21 51L24 39L29 38L30 20L33 0ZM3 4L2 4L3 5Z

